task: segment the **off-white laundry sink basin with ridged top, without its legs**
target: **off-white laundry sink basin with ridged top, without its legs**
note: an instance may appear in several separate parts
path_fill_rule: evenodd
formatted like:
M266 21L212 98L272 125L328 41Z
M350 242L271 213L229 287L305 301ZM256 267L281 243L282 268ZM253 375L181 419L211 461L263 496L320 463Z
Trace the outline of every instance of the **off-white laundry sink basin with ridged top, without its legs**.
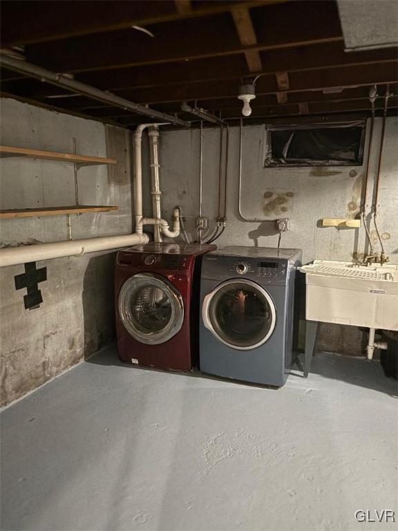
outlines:
M299 270L306 319L398 330L398 265L315 260Z

